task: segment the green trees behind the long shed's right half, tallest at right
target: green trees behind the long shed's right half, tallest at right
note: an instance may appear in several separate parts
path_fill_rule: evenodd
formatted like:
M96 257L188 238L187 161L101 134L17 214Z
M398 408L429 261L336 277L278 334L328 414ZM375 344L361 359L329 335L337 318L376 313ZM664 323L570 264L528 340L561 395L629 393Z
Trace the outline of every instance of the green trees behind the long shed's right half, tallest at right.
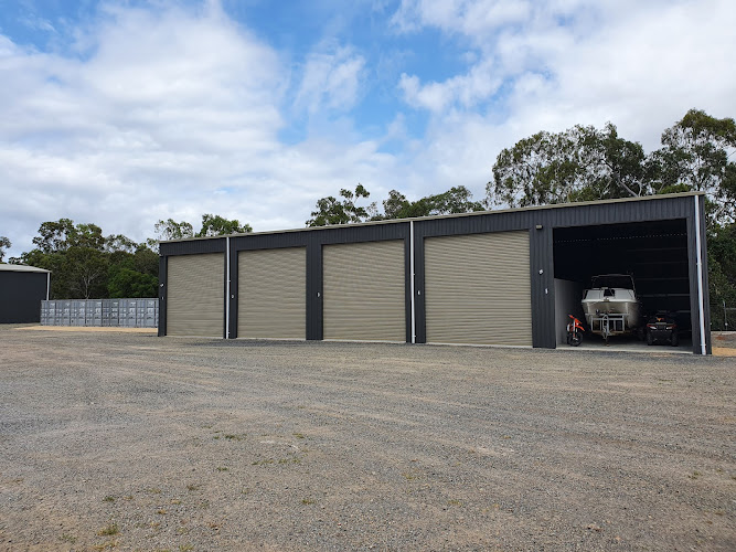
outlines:
M661 135L661 148L646 153L641 144L602 129L577 125L562 132L541 131L503 149L492 167L482 202L460 185L409 201L397 190L382 202L359 205L370 192L354 191L317 202L308 226L467 213L609 200L674 192L705 192L708 282L714 329L724 329L723 306L736 308L736 124L691 109ZM733 316L733 315L732 315ZM732 318L729 326L736 327Z

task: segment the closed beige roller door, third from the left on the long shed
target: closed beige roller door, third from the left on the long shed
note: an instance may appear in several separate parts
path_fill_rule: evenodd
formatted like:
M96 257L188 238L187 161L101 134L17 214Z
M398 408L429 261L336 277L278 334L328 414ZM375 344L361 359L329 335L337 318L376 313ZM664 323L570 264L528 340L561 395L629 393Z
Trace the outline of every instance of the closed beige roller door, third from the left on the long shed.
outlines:
M406 341L404 241L326 245L323 338Z

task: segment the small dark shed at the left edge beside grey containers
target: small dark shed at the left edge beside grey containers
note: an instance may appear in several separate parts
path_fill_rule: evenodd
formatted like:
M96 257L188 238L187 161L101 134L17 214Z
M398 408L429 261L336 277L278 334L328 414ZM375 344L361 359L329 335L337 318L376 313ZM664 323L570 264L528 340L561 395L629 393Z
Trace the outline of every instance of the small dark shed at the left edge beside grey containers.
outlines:
M0 264L0 323L41 321L50 277L49 270L35 266Z

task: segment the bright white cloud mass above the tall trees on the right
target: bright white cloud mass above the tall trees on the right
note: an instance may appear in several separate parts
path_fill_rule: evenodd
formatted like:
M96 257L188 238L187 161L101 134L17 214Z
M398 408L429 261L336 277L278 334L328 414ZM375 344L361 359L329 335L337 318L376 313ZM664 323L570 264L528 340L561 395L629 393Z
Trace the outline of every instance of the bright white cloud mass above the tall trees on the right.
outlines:
M651 150L692 107L734 115L732 2L535 3L505 12L513 24L500 26L478 15L502 4L405 1L394 17L406 32L438 28L478 52L470 68L445 81L404 74L397 84L409 106L430 114L412 160L414 185L465 184L482 197L499 151L542 129L612 121Z

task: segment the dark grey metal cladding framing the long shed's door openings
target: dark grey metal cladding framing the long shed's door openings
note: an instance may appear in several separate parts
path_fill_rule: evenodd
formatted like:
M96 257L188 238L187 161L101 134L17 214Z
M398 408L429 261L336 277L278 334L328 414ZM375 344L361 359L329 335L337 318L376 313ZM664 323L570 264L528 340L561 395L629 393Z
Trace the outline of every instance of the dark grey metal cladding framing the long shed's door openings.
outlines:
M700 203L703 203L702 201ZM710 352L710 318L707 302L707 266L705 258L704 208L701 205L701 230L703 252L703 293L705 301L705 331ZM697 270L695 255L694 197L664 197L620 202L600 202L590 204L555 205L529 210L489 212L483 214L457 215L414 221L415 250L415 321L416 342L426 342L425 285L425 237L460 235L473 233L504 232L526 230L530 232L530 278L532 291L532 333L533 346L554 348L554 229L606 224L620 224L642 221L685 220L689 234L690 289L693 304L693 342L700 338L697 319ZM257 248L306 246L307 248L307 339L320 340L322 333L322 246L328 244L356 243L382 240L405 240L406 274L406 340L412 341L412 274L409 221L395 221L382 224L339 226L314 230L296 230L274 234L238 235L230 238L231 243L231 295L230 337L237 337L237 252ZM161 244L161 282L166 284L166 257L169 255L224 252L225 238L170 242ZM540 274L540 270L542 273ZM226 282L223 284L226 285ZM161 328L166 328L166 287L161 289ZM225 325L223 325L225 326ZM161 331L160 331L161 333ZM700 351L697 351L700 352Z

